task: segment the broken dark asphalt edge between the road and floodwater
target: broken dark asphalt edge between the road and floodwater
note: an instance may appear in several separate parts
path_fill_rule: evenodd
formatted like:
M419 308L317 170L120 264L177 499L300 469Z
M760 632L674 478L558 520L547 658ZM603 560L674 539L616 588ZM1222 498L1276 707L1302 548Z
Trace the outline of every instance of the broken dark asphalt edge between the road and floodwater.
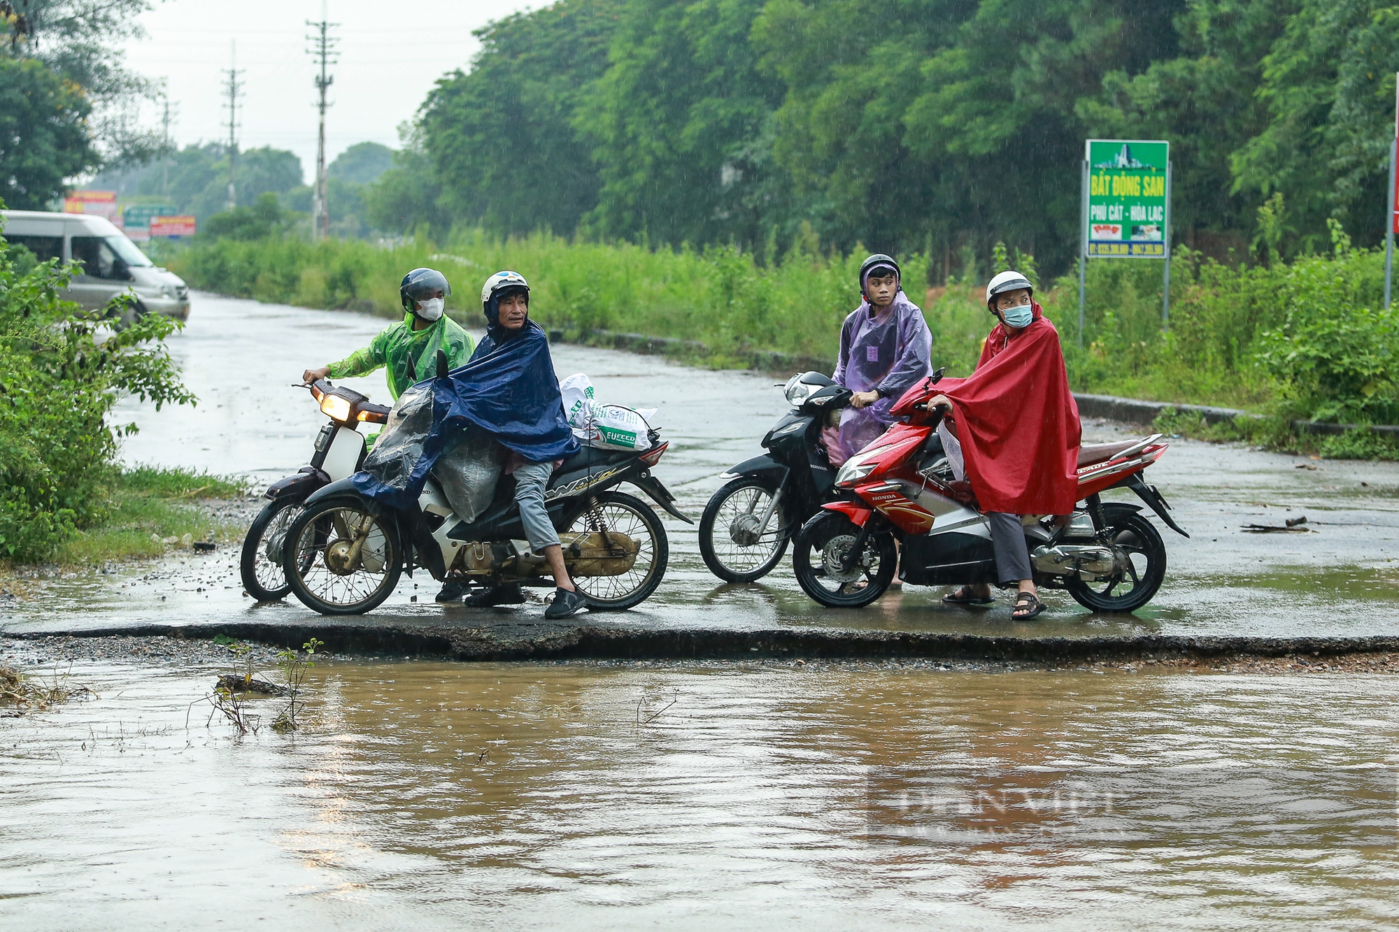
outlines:
M448 626L143 624L106 628L4 631L3 637L157 637L211 640L225 635L269 645L312 637L339 654L446 658L452 661L744 661L744 659L947 659L1028 663L1223 656L1339 656L1399 651L1399 637L1090 637L1021 638L912 631L807 631L705 628L631 630L579 627L534 638L498 638L484 628Z

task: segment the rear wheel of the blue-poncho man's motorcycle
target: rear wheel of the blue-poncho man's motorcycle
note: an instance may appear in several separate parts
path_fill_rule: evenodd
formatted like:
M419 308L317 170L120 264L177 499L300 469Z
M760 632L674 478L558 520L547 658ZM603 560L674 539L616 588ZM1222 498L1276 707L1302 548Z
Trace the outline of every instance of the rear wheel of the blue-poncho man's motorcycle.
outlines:
M620 577L574 577L574 585L593 612L621 612L645 602L660 585L670 561L670 542L655 509L635 495L610 491L595 501L596 507L575 518L568 530L627 535L639 544L637 563Z

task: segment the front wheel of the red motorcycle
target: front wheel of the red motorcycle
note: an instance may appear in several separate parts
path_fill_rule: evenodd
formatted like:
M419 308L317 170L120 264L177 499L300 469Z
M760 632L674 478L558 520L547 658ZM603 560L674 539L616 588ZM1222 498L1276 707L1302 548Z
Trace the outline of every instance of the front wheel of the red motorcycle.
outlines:
M862 558L848 571L841 561L859 533L845 515L827 512L796 536L792 570L802 591L831 609L858 609L884 595L898 568L894 535L876 533L865 542Z

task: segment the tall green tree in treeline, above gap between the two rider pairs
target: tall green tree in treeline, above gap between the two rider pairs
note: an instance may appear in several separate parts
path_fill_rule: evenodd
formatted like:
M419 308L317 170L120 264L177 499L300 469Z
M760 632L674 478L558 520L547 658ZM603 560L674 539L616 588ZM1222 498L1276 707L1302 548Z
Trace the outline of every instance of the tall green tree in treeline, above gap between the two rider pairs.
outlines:
M781 214L782 85L748 42L761 0L628 0L576 125L596 140L590 225L652 242L757 245Z

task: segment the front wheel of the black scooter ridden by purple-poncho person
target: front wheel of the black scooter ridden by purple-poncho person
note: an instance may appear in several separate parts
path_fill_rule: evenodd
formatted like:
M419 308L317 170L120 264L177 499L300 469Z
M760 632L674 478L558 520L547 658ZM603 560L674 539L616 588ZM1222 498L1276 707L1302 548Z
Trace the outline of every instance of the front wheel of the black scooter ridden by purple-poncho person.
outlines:
M786 553L788 518L778 502L768 530L755 537L758 518L774 495L772 483L755 476L740 476L709 497L700 518L700 556L709 572L725 582L753 582L772 571ZM751 543L740 543L751 539Z

